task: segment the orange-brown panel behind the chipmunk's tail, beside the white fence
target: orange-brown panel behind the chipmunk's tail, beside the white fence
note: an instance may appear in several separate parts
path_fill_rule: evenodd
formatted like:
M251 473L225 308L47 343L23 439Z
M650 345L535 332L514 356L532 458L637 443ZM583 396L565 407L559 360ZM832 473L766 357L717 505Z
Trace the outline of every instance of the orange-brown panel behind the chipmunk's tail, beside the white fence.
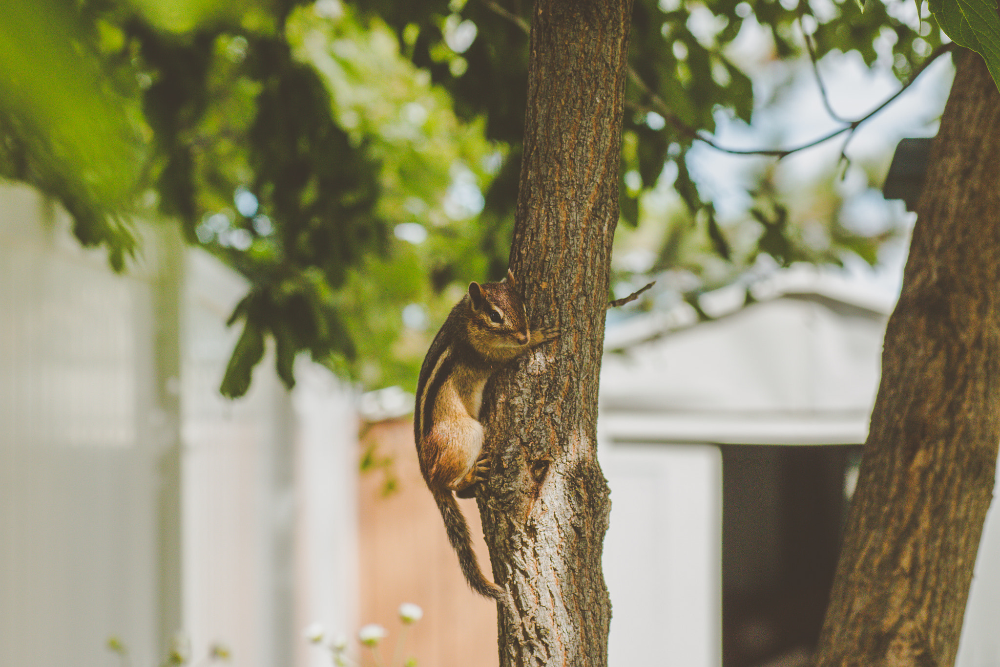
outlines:
M421 667L495 667L496 605L472 593L462 578L441 516L420 477L409 418L373 425L361 440L361 452L373 443L376 456L392 457L387 470L396 477L397 488L383 493L382 470L361 476L358 620L389 630L380 650L383 661L391 664L400 628L397 609L402 602L413 602L423 608L424 617L410 629L406 657L415 657ZM478 540L483 570L489 572L475 501L460 502ZM370 656L363 664L373 664Z

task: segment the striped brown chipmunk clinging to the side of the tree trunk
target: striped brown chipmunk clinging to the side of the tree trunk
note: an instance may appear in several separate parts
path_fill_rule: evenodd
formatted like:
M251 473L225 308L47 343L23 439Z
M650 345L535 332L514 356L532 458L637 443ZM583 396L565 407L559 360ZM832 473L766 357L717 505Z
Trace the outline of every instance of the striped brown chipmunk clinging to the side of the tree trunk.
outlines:
M448 541L472 590L494 600L505 592L479 569L469 525L452 491L475 495L489 461L480 456L483 425L479 412L486 381L536 345L556 337L556 328L532 331L517 294L514 275L498 283L469 283L434 337L417 383L413 435L420 471L444 519Z

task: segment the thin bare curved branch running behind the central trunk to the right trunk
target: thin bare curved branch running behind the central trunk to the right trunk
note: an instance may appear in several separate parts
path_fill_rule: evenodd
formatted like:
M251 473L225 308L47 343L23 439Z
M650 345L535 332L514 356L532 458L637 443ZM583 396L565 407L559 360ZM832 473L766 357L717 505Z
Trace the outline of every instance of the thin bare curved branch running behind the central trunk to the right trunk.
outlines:
M517 16L515 14L511 14L509 11L507 11L506 9L504 9L503 7L501 7L500 5L498 5L494 0L481 0L481 1L482 1L482 3L484 5L486 5L487 7L489 7L497 15L502 16L502 17L508 19L509 21L513 21L525 33L527 33L527 34L531 33L531 26L529 26L528 23L527 23L527 21L525 21L524 19L522 19L520 16ZM803 30L802 33L805 34L805 30ZM744 149L744 148L729 148L727 146L723 146L721 144L718 144L718 143L716 143L715 138L713 136L711 136L710 134L707 134L707 133L705 133L705 132L703 132L701 130L693 128L690 125L688 125L687 123L685 123L684 121L682 121L680 118L678 118L676 116L676 114L674 114L670 110L670 107L667 105L667 103L663 101L663 98L661 98L659 95L657 95L655 92L653 92L650 89L650 87L648 85L646 85L646 82L642 80L642 77L639 76L638 72L636 72L635 69L631 65L629 65L629 68L628 68L628 76L629 76L629 80L631 80L632 83L635 84L636 88L638 88L644 95L646 95L646 97L648 97L650 99L650 101L652 101L652 103L653 103L653 109L651 109L651 110L656 111L656 113L658 113L661 116L663 116L663 118L667 122L669 122L671 125L674 126L674 129L678 130L681 134L686 135L688 138L690 138L692 140L695 140L695 141L700 141L700 142L702 142L704 144L707 144L708 146L714 148L715 150L717 150L719 152L728 153L730 155L763 155L763 156L766 156L766 157L776 157L776 158L778 158L780 160L781 158L787 157L787 156L791 155L792 153L798 153L799 151L804 151L807 148L812 148L813 146L818 146L818 145L820 145L822 143L825 143L825 142L829 141L830 139L833 139L834 137L839 137L844 132L850 132L851 134L854 134L854 132L863 123L865 123L866 121L870 120L873 116L875 116L877 113L879 113L880 111L882 111L882 109L884 109L885 107L887 107L888 105L890 105L892 102L894 102L897 97L899 97L904 92L906 92L906 90L911 85L913 85L913 83L917 80L917 78L921 74L924 73L924 70L927 69L928 65L930 65L932 62L934 62L935 60L937 60L941 56L943 56L945 53L948 53L949 51L952 51L955 48L955 43L954 42L949 42L947 44L942 44L941 46L939 46L936 49L934 49L933 53L931 53L929 56L927 56L927 59L924 60L924 62L920 63L920 66L917 67L916 70L914 70L914 72L910 75L910 78L907 79L906 83L903 84L902 88L900 88L895 93L893 93L892 95L890 95L888 98L886 98L886 100L884 102L882 102L881 104L879 104L877 107L875 107L874 109L872 109L871 111L869 111L867 114L865 114L861 118L858 118L857 120L852 120L852 121L847 121L847 120L841 118L831 108L830 102L827 99L826 89L824 88L823 82L822 82L822 80L819 77L819 69L818 69L818 67L816 65L815 53L813 52L812 43L811 43L808 35L806 35L806 47L809 49L809 56L810 56L810 58L812 60L813 68L816 71L816 81L817 81L817 83L819 83L820 93L823 96L823 104L826 106L827 112L830 114L830 116L833 117L834 120L837 120L839 122L846 123L846 124L844 125L844 127L841 127L839 129L833 130L832 132L828 132L827 134L824 134L821 137L813 139L812 141L808 141L808 142L806 142L804 144L799 144L798 146L794 146L792 148L746 148L746 149ZM844 142L844 148L845 149L846 149L847 143L850 141L850 139L851 139L851 137L849 136L847 138L847 141ZM841 150L841 157L844 158L844 159L847 159L847 156L844 155L844 150L843 149Z

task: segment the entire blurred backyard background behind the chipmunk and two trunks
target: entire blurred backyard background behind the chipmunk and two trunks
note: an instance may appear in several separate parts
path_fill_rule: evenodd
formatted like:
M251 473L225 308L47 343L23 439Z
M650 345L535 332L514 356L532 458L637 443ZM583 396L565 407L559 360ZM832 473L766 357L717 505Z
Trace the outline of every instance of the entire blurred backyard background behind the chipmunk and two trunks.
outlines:
M530 16L4 8L0 664L319 666L338 635L371 664L369 622L393 664L497 663L409 415L506 271ZM806 664L913 223L881 188L943 40L902 0L636 0L609 298L657 283L605 341L613 666ZM963 666L1000 661L998 521Z

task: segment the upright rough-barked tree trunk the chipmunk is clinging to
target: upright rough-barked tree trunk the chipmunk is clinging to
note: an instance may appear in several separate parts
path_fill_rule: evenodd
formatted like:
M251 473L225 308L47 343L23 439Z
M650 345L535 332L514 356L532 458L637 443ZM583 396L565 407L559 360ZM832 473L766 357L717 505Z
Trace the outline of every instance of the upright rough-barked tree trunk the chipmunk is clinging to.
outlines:
M496 378L485 405L492 473L480 496L500 665L607 664L601 572L608 488L597 389L618 223L631 0L538 0L510 265L534 326L557 325Z

